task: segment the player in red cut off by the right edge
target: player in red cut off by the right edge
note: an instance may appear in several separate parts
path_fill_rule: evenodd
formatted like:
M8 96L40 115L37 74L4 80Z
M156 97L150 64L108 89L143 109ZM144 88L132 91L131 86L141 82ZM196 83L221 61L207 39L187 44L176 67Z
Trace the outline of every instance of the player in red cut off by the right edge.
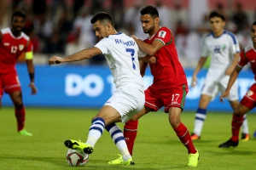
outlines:
M230 88L236 81L239 72L241 71L244 65L248 63L251 64L251 68L254 74L254 79L256 80L256 21L251 26L251 37L253 41L253 45L248 46L245 48L241 54L238 64L236 65L235 70L232 72L230 76L230 81L228 87L226 88L225 92L220 96L220 100L224 101L224 98L229 96ZM236 110L233 113L232 119L232 137L224 142L223 144L219 144L219 148L229 148L230 146L236 147L239 142L239 130L241 124L243 122L243 116L248 112L253 110L256 106L256 83L254 83L251 88L247 91L247 94L241 99L240 104L236 107Z

